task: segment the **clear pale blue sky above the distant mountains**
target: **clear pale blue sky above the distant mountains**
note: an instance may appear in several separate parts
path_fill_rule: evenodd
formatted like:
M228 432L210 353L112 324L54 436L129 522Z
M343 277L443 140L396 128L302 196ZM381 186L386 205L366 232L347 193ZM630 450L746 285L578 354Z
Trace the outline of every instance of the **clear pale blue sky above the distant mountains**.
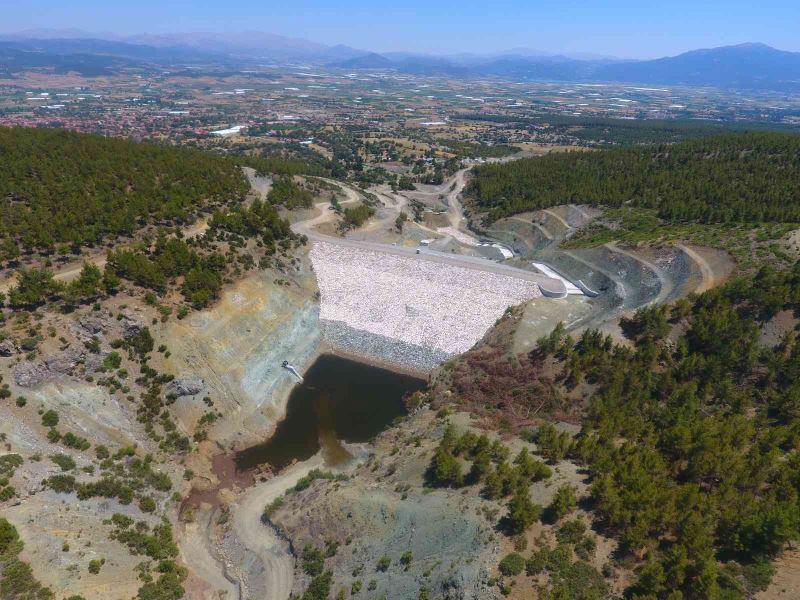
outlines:
M800 51L800 0L0 0L0 30L259 30L377 51L649 58L758 41Z

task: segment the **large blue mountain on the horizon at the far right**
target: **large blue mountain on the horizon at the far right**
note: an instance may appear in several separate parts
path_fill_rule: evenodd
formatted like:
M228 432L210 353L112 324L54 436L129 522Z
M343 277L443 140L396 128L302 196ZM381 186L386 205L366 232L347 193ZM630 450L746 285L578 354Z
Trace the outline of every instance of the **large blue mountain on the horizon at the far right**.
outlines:
M594 77L656 85L800 91L800 53L765 44L741 44L607 65L598 69Z

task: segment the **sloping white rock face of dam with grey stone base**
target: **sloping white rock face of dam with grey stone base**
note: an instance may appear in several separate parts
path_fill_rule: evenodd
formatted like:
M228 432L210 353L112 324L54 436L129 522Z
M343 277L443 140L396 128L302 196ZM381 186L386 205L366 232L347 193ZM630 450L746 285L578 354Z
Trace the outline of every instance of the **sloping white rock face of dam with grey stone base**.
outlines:
M333 345L428 369L468 350L532 281L453 264L315 242L320 320Z

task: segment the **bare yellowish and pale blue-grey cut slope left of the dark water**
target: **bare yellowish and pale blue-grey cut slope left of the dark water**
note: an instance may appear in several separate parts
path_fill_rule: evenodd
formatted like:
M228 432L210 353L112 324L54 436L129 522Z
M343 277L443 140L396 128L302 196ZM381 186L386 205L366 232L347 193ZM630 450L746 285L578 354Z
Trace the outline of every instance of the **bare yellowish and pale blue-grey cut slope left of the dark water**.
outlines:
M304 271L295 279L298 285L273 280L271 274L255 273L227 290L212 308L170 319L160 336L168 340L170 355L153 354L153 368L159 372L202 379L203 392L195 397L209 396L214 409L226 416L211 425L209 438L225 446L257 444L273 431L297 381L281 363L290 360L303 372L319 349L313 273ZM191 401L178 402L173 409L187 431L206 411L205 405Z

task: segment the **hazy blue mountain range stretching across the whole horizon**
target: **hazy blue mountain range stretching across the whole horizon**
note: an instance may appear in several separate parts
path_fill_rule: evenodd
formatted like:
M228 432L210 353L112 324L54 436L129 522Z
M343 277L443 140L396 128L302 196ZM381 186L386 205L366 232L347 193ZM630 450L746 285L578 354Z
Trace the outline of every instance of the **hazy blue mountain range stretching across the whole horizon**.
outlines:
M298 64L416 75L565 82L631 82L800 91L800 53L765 44L694 50L655 60L564 56L529 49L491 55L376 53L263 32L117 36L78 30L0 35L0 73L52 67L100 75L123 66Z

